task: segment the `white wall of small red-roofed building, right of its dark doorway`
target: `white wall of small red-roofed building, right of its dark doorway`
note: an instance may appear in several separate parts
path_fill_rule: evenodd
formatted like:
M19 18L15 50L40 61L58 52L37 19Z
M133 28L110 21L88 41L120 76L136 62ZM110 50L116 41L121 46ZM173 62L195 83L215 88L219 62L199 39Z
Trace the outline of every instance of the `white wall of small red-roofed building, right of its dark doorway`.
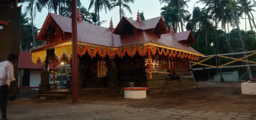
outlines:
M30 69L30 80L29 80L30 87L39 86L41 81L40 73L41 73L40 69Z

